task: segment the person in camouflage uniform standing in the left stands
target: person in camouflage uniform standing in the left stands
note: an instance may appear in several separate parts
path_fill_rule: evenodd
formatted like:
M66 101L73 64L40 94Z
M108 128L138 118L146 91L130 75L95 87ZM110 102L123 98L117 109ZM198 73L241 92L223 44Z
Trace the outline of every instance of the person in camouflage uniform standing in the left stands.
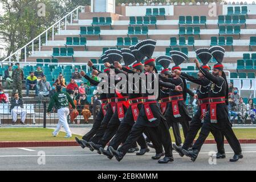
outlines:
M17 65L18 68L14 69L13 74L11 75L13 78L13 94L18 90L19 98L22 98L22 80L24 78L24 73L22 69L19 68L19 63L16 63L15 65Z

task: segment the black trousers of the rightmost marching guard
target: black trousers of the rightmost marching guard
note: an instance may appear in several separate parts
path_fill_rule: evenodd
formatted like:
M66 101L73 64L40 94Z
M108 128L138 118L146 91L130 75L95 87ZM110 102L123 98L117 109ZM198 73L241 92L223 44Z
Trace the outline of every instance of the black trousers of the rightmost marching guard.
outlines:
M228 120L228 119L227 119ZM240 143L235 137L234 131L232 130L229 121L218 120L218 123L211 123L209 120L205 120L202 124L201 132L196 142L193 145L193 149L201 150L202 144L204 144L205 139L208 137L210 131L221 131L224 134L227 142L229 142L230 147L235 154L241 154L242 149Z

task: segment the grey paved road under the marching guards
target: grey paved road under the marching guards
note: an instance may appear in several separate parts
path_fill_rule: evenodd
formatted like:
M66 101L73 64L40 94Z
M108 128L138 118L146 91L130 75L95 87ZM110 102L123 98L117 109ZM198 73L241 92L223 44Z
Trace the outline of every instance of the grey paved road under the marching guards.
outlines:
M237 163L230 163L233 152L225 145L226 159L217 159L217 164L210 165L209 151L216 150L215 144L205 144L196 162L174 153L174 162L158 164L152 160L154 151L147 155L128 154L121 162L115 158L107 159L103 155L80 147L37 147L37 148L0 148L0 170L255 170L256 144L242 144L244 158ZM45 164L38 152L45 153ZM38 164L41 163L42 165Z

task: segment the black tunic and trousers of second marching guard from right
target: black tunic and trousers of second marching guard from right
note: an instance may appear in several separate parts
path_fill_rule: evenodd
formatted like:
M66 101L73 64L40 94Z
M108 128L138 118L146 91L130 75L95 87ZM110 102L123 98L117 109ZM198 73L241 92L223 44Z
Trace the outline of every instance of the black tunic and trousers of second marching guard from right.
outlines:
M181 77L184 77L186 80L189 80L191 82L194 82L195 84L200 85L198 86L198 89L197 89L198 100L204 100L206 98L209 98L209 90L210 90L211 82L207 78L205 77L195 78L193 76L187 75L186 73L181 73ZM196 138L198 131L202 127L201 117L202 117L201 106L198 105L197 112L192 118L192 122L189 125L189 131L188 131L188 134L186 135L182 148L188 150L190 144ZM220 152L221 154L224 154L225 152L224 135L217 130L211 130L211 133L213 134L214 139L217 143L218 152Z

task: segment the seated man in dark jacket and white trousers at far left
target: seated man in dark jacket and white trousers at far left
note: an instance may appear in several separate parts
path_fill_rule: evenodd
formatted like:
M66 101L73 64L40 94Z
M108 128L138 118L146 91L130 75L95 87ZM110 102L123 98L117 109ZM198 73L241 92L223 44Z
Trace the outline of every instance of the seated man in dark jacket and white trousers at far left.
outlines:
M25 124L26 110L23 109L23 101L19 98L19 94L15 93L14 98L11 100L11 115L13 116L13 125L17 122L18 114L21 114L21 124Z

